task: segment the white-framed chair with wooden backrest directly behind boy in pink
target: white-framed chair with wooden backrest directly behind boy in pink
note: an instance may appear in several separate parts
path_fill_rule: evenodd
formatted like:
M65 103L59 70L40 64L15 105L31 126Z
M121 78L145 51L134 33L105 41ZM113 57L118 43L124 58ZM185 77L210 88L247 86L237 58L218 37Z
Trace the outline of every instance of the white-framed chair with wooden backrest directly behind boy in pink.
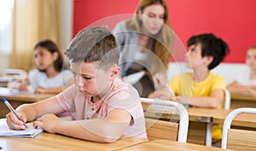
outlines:
M176 107L179 113L179 124L158 119L145 119L149 140L169 139L177 142L187 142L189 114L178 102L159 99L141 98L141 102Z

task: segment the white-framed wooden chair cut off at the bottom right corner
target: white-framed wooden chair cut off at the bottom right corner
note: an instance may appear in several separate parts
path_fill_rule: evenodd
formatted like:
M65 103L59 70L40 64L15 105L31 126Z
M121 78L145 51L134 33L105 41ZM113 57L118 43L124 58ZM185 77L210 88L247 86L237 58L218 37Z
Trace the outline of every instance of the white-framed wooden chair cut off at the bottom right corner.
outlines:
M239 113L256 113L256 108L241 107L236 108L228 114L224 120L221 148L236 150L255 150L256 131L230 129L232 120Z

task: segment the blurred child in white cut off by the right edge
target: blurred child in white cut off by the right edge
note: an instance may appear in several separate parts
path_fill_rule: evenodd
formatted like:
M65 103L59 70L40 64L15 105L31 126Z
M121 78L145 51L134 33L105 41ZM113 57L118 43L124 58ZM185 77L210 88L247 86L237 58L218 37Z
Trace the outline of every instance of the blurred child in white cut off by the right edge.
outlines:
M250 71L240 73L235 81L228 85L231 94L256 95L256 45L247 49L246 65Z

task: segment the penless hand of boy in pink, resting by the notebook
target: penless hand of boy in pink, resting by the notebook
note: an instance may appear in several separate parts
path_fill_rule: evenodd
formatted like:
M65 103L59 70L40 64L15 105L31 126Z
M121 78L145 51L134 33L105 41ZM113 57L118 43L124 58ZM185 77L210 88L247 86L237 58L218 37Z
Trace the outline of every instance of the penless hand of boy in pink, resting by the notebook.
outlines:
M61 119L53 113L45 114L34 122L34 127L41 127L44 131L55 133L56 126L61 122Z

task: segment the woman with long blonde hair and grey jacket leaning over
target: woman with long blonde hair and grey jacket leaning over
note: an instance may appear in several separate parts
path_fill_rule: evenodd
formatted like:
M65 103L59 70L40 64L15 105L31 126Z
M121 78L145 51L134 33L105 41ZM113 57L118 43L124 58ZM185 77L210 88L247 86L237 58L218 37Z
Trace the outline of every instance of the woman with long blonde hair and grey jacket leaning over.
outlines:
M173 46L173 31L164 0L141 0L130 20L113 29L120 51L120 75L144 71L133 86L141 97L166 86L166 70Z

